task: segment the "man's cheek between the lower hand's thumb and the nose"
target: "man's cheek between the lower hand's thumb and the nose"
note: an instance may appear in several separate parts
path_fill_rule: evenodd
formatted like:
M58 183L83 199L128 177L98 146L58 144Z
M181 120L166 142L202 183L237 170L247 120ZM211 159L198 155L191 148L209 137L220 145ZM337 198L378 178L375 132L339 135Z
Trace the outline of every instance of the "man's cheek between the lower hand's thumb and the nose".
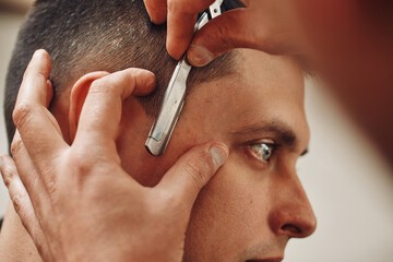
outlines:
M255 183L254 174L237 158L229 156L198 196L186 238L190 258L234 259L259 242L260 236L267 236L267 198L261 188L264 183Z

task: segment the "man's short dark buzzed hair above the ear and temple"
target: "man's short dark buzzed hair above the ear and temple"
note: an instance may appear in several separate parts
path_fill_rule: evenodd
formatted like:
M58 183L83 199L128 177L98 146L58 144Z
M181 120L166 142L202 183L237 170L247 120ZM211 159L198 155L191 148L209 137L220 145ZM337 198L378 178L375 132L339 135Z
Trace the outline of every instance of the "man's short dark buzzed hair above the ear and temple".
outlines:
M226 10L243 7L225 0ZM142 0L37 0L22 26L7 75L4 114L9 142L15 132L12 111L27 63L36 49L52 60L50 80L55 98L70 83L92 71L115 72L126 68L148 69L157 87L140 103L157 114L177 61L165 48L166 25L154 25ZM228 52L210 66L192 69L188 88L195 83L235 72L236 56Z

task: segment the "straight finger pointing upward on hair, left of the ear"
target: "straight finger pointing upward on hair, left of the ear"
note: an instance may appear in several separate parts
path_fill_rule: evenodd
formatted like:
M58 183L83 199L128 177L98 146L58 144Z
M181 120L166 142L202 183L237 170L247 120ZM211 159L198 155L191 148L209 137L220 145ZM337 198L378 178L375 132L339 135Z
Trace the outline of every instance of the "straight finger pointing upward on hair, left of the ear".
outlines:
M48 111L52 86L48 81L50 58L44 50L37 50L29 62L21 84L13 120L33 159L47 166L58 148L66 147L60 128Z

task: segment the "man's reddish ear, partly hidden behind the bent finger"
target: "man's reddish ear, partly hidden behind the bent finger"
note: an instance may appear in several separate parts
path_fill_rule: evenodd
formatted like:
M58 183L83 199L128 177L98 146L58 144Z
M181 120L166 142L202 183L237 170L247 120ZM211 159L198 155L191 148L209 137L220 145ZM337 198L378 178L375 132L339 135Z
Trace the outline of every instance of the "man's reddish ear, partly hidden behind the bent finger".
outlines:
M71 141L73 141L75 138L81 111L91 85L93 84L94 81L102 79L108 74L109 74L108 72L104 72L104 71L87 73L83 75L81 79L79 79L76 83L73 85L71 90L70 112L69 112Z

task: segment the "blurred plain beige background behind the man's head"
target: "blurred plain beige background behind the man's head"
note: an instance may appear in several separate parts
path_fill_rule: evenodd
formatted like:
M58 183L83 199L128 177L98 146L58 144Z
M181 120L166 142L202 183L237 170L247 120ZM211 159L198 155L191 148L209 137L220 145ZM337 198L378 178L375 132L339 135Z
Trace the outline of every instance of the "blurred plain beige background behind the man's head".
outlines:
M7 2L7 4L4 3ZM27 3L29 1L20 1ZM0 0L0 99L23 8ZM307 82L306 110L311 128L310 153L299 160L298 174L314 207L318 229L291 240L287 262L393 261L393 171L326 88ZM3 111L0 153L7 153ZM0 187L0 215L8 204Z

